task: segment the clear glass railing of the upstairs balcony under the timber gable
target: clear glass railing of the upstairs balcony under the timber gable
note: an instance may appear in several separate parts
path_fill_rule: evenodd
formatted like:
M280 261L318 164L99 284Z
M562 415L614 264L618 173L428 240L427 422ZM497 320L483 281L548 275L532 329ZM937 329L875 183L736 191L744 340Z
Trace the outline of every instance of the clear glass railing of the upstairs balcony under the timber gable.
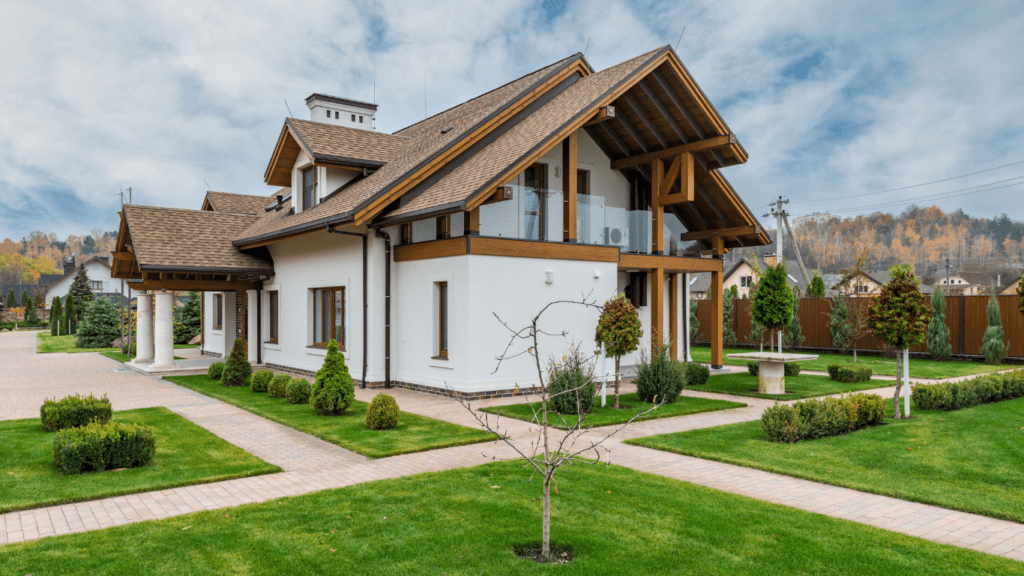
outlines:
M480 236L562 242L562 191L513 186L512 198L480 206ZM577 243L615 246L622 252L651 252L650 210L627 210L608 206L599 195L577 197ZM676 253L678 239L686 231L667 212L664 219L666 252ZM671 251L670 251L671 250Z

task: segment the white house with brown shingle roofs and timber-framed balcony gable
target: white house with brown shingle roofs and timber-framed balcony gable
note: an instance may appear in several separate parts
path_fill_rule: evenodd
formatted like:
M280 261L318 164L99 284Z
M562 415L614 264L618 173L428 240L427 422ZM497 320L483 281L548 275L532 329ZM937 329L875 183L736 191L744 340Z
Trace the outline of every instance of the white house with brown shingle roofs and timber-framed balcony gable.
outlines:
M375 105L307 104L271 151L273 194L124 207L113 276L155 308L140 362L173 366L162 291L191 289L207 353L240 337L251 361L311 374L335 338L360 384L511 395L537 374L527 357L495 372L495 315L521 327L553 300L626 291L643 347L683 355L685 276L711 273L721 311L722 256L768 243L720 173L746 153L668 46L600 72L575 54L393 134ZM681 255L693 242L706 257ZM544 324L567 335L543 352L593 343L597 316L554 310Z

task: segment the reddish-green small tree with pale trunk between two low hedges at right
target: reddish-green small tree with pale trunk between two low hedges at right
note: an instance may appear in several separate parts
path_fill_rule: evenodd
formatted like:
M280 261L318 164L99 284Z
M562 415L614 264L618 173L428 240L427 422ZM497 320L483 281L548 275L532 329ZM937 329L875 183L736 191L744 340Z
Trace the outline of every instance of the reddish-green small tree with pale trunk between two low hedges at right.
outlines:
M906 351L922 343L928 332L932 311L928 299L918 288L918 277L909 264L894 265L889 269L889 282L882 287L874 305L868 310L867 325L874 336L891 347ZM903 385L902 354L896 356L896 395L893 397L894 417L899 419L899 395ZM909 418L909 401L907 413Z

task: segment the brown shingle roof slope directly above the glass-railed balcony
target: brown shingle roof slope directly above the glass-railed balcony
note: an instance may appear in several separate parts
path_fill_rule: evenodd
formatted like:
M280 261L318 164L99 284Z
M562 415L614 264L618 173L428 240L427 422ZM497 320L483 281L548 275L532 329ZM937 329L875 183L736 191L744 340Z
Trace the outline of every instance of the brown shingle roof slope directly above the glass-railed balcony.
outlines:
M575 82L465 164L385 218L462 203L481 192L501 172L543 146L559 128L595 106L610 90L663 51L664 48L652 50ZM497 186L497 182L494 183Z

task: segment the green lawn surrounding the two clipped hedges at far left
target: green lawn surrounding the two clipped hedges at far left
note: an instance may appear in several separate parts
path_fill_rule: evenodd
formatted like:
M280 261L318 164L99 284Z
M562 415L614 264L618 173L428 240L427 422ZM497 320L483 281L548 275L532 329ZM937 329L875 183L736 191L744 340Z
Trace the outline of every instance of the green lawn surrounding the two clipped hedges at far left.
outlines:
M56 433L39 418L0 422L0 512L281 471L166 408L115 412L114 419L153 426L153 462L65 476L53 467Z

